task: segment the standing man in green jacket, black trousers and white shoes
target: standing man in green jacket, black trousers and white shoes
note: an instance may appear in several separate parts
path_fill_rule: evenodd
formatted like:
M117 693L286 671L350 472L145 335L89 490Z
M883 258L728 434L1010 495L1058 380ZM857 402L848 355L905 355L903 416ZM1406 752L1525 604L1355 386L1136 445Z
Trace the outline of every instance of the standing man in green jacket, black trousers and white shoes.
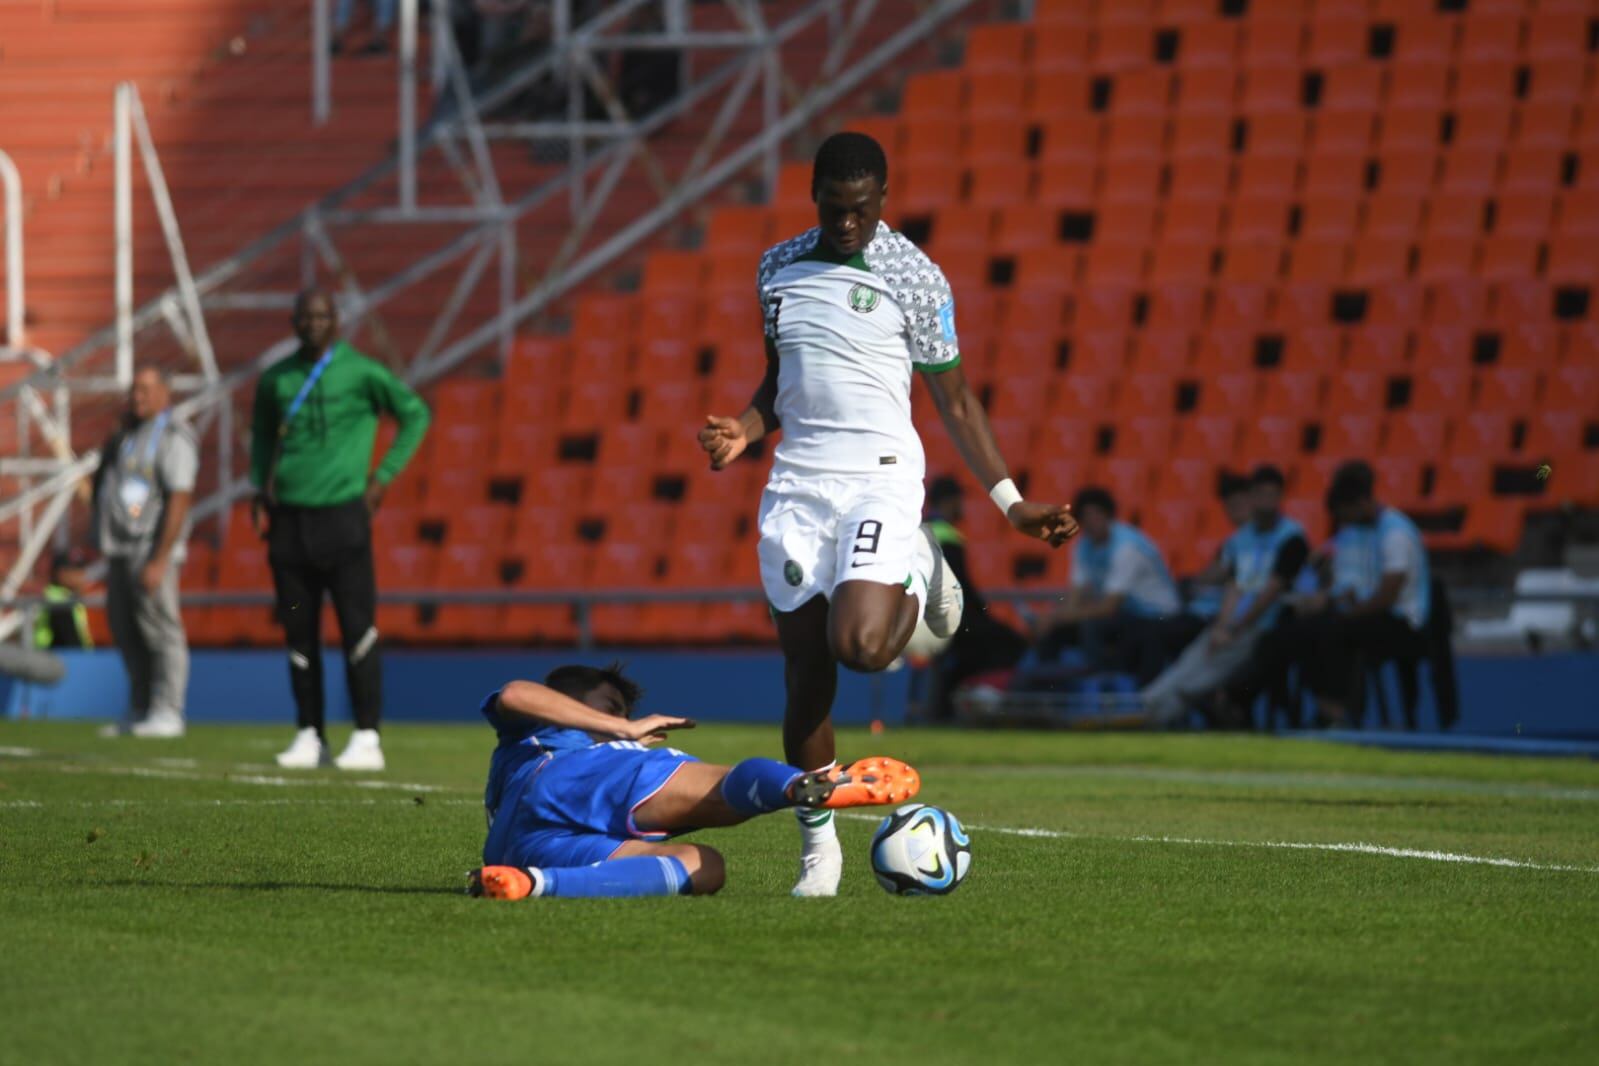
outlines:
M333 598L344 642L355 732L333 762L381 770L377 738L382 671L377 657L377 580L373 511L427 433L427 404L385 366L337 339L333 297L320 289L294 300L301 347L256 385L249 473L259 489L251 519L267 540L278 622L289 650L299 730L278 766L328 766L321 690L321 599ZM400 424L393 444L368 476L377 419Z

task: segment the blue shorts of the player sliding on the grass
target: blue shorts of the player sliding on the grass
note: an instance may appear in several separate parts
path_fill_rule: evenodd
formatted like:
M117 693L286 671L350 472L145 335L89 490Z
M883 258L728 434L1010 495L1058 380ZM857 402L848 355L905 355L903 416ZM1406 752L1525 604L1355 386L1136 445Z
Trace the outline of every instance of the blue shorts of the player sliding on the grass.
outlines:
M513 866L588 866L627 841L664 841L633 812L665 788L691 754L644 748L630 740L561 751L528 767L524 786L500 805L484 847L486 863ZM502 820L510 820L502 826ZM489 852L499 852L491 857Z

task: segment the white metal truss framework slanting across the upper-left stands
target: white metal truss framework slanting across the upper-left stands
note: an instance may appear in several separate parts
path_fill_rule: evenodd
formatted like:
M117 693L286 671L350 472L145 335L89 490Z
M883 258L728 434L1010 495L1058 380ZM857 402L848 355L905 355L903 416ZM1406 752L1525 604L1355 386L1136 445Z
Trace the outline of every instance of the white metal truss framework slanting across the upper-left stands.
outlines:
M66 503L91 473L98 454L85 447L109 428L120 409L120 393L131 379L134 358L187 363L198 372L179 374L189 395L177 411L197 420L203 454L214 463L216 483L197 502L195 516L219 513L248 492L238 430L246 425L241 401L265 366L288 355L283 337L254 358L221 368L211 337L232 316L281 316L294 292L313 281L334 283L350 329L374 334L385 316L403 308L419 284L453 280L424 331L408 339L405 363L413 384L432 380L461 363L508 356L518 324L547 312L576 286L612 267L641 241L694 209L708 193L739 179L758 177L774 192L784 145L806 133L825 112L881 77L887 64L924 42L974 0L721 0L736 29L704 30L694 14L708 5L683 0L616 0L579 19L574 0L550 5L550 43L542 54L473 94L448 21L432 22L433 115L419 121L416 0L401 0L400 96L401 129L393 158L307 208L240 253L192 276L177 221L166 195L158 157L138 93L117 94L117 316L114 324L74 350L0 390L0 403L19 412L16 447L5 447L0 475L21 489L0 500L0 526L21 523L22 556L11 569L0 599L10 599L51 535L61 535ZM325 0L313 11L326 14ZM433 5L443 11L446 5ZM801 37L825 40L820 62L796 62ZM313 19L313 118L336 107L333 77L325 62L328 34ZM871 42L871 43L868 43ZM675 94L646 113L630 113L612 75L624 54L673 51L680 78ZM518 117L515 101L531 86L560 85L564 113ZM598 107L600 115L593 110ZM688 117L710 117L692 144L688 163L676 171L662 158L662 145L681 153ZM750 118L755 121L750 121ZM752 133L740 133L739 120ZM142 307L131 294L131 149L144 160L177 283ZM496 152L497 149L497 152ZM564 166L553 177L510 190L497 158L507 152L556 153ZM454 201L429 200L421 171L448 173L461 185ZM633 176L654 193L654 203L627 213L617 225L616 193ZM553 221L558 214L560 221ZM596 235L601 219L612 224ZM560 229L556 253L537 261L521 251L518 224ZM373 227L446 229L448 238L409 261L363 268L358 276L347 241ZM8 230L10 232L10 230ZM125 240L126 238L126 240ZM492 267L492 270L491 270ZM483 288L486 286L486 288ZM472 297L491 294L497 312L475 324L462 315ZM256 320L259 321L259 318ZM376 345L382 348L384 345ZM24 414L26 412L26 414ZM34 455L30 436L50 443ZM216 433L214 438L209 438ZM3 447L3 444L0 444ZM82 451L75 451L82 449ZM32 548L32 550L29 550ZM11 622L14 625L14 620ZM0 634L6 630L0 622Z

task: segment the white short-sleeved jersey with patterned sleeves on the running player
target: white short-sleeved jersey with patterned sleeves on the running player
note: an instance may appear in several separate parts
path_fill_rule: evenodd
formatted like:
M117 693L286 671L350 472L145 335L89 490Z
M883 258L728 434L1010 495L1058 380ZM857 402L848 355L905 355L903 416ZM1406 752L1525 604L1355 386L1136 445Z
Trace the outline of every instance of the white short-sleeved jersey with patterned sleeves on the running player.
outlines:
M782 440L772 476L921 479L911 369L959 366L955 297L916 245L879 222L847 261L811 229L761 256L766 336L777 345Z

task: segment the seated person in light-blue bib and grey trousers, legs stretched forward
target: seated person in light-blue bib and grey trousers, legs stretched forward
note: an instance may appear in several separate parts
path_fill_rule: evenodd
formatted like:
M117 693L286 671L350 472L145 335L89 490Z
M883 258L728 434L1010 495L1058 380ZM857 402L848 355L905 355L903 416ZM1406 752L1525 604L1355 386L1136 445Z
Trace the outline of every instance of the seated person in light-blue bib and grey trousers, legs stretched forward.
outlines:
M1177 662L1140 694L1156 726L1207 706L1228 678L1249 662L1276 623L1282 595L1294 587L1310 556L1305 529L1282 515L1282 471L1258 467L1247 484L1250 521L1226 539L1218 556L1228 574L1222 609ZM1226 718L1231 721L1217 716L1212 721L1228 726L1241 721L1239 716Z

